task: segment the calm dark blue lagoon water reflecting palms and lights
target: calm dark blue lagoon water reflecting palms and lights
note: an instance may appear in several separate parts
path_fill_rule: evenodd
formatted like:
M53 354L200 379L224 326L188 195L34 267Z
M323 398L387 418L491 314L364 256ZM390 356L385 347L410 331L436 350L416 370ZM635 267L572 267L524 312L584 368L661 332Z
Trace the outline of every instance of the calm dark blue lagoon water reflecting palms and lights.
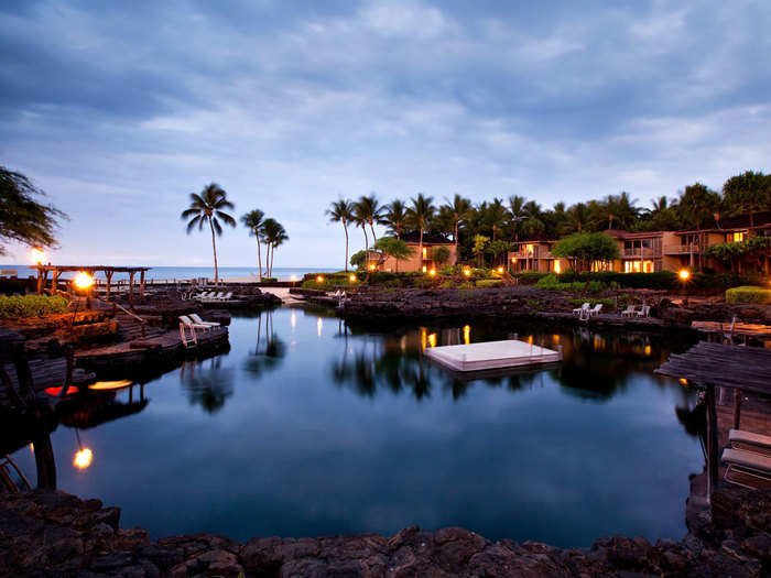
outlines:
M422 357L512 331L562 345L563 366L464 383ZM683 417L695 399L652 370L687 343L526 325L377 332L302 309L234 319L230 336L229 353L146 383L146 404L134 386L138 413L79 429L85 470L73 426L101 414L65 416L52 435L58 487L120 505L124 525L154 536L417 524L587 546L685 533L688 475L704 464ZM100 399L129 402L113 395ZM29 448L14 457L34 472Z

